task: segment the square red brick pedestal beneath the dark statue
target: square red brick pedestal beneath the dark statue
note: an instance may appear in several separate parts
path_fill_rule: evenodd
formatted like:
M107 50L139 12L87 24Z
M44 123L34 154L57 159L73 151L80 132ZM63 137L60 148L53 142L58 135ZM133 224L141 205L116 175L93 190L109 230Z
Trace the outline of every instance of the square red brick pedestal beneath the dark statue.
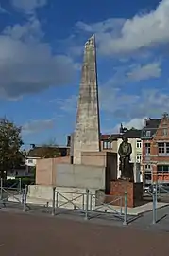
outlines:
M113 201L118 196L123 196L122 200L112 202L113 205L124 206L124 195L127 192L127 207L133 208L141 204L143 201L143 183L134 183L127 180L115 180L110 182L109 201Z

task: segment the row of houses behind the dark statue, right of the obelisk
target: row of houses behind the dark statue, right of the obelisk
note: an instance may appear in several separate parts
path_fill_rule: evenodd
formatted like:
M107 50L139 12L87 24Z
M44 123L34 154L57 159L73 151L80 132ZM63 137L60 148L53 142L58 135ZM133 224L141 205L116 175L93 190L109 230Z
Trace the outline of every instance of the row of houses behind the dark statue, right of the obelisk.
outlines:
M169 117L164 113L161 119L144 119L142 130L127 130L121 125L119 134L102 135L103 151L117 152L122 136L132 145L131 162L135 181L144 184L152 182L169 183ZM118 159L119 170L119 159ZM118 172L118 176L120 173Z

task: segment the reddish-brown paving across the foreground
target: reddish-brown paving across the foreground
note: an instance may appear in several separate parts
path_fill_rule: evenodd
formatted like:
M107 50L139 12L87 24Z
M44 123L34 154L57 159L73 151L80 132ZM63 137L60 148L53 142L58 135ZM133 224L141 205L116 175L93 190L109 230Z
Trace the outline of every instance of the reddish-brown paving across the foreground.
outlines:
M169 233L0 212L1 256L168 256Z

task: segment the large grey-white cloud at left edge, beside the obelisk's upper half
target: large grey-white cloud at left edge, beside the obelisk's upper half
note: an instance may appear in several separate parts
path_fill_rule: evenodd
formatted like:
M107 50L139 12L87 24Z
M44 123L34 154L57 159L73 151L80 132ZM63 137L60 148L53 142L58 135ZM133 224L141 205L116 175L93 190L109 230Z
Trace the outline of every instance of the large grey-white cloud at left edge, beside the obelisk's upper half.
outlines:
M0 35L0 95L17 98L74 81L76 64L43 43L39 20L6 27ZM65 75L66 74L66 75Z

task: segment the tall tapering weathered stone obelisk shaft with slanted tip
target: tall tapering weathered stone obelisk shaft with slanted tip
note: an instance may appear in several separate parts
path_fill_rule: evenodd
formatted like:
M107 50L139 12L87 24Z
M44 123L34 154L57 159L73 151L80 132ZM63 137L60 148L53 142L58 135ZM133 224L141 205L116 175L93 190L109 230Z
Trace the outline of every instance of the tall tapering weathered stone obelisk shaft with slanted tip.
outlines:
M100 119L94 35L86 42L74 133L74 164L81 163L81 152L100 151Z

